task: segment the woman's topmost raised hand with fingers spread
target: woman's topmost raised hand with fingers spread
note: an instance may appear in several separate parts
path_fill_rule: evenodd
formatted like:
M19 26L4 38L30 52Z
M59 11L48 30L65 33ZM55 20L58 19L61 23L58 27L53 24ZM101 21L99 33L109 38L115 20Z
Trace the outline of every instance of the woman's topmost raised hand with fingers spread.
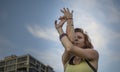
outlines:
M69 11L69 9L68 8L63 8L63 10L61 10L61 12L64 14L63 16L61 16L60 18L59 18L59 20L61 20L61 19L72 19L73 18L73 11Z

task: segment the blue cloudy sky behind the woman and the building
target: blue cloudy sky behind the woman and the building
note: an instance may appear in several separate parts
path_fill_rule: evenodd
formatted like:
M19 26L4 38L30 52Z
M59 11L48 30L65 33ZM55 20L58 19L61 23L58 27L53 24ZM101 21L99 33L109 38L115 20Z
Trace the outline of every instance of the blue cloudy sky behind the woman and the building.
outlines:
M0 0L0 59L31 54L63 72L54 21L64 7L74 11L74 26L88 33L99 52L98 72L119 72L120 0Z

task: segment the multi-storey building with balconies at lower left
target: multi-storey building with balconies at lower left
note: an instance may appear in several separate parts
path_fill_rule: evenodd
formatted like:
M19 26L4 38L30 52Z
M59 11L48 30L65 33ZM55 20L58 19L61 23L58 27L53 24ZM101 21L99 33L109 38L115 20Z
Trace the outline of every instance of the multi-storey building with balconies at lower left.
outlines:
M11 55L0 60L0 72L54 72L54 70L27 54Z

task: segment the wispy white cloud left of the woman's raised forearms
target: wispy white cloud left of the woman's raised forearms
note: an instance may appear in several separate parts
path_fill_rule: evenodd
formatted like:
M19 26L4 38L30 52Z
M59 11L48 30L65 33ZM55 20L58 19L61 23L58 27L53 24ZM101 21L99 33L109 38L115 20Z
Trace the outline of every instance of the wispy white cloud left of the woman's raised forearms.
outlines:
M28 31L37 38L58 41L58 33L55 29L47 27L39 27L37 25L27 26Z

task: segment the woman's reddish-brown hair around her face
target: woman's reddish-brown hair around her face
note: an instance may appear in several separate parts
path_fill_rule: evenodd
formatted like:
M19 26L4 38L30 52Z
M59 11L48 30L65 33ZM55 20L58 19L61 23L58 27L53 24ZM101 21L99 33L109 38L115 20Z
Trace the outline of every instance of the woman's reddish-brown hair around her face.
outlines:
M85 46L84 46L84 48L93 48L93 45L92 45L92 43L90 41L89 36L87 35L86 32L83 31L83 29L75 28L75 32L81 32L84 35L84 38L85 38Z

